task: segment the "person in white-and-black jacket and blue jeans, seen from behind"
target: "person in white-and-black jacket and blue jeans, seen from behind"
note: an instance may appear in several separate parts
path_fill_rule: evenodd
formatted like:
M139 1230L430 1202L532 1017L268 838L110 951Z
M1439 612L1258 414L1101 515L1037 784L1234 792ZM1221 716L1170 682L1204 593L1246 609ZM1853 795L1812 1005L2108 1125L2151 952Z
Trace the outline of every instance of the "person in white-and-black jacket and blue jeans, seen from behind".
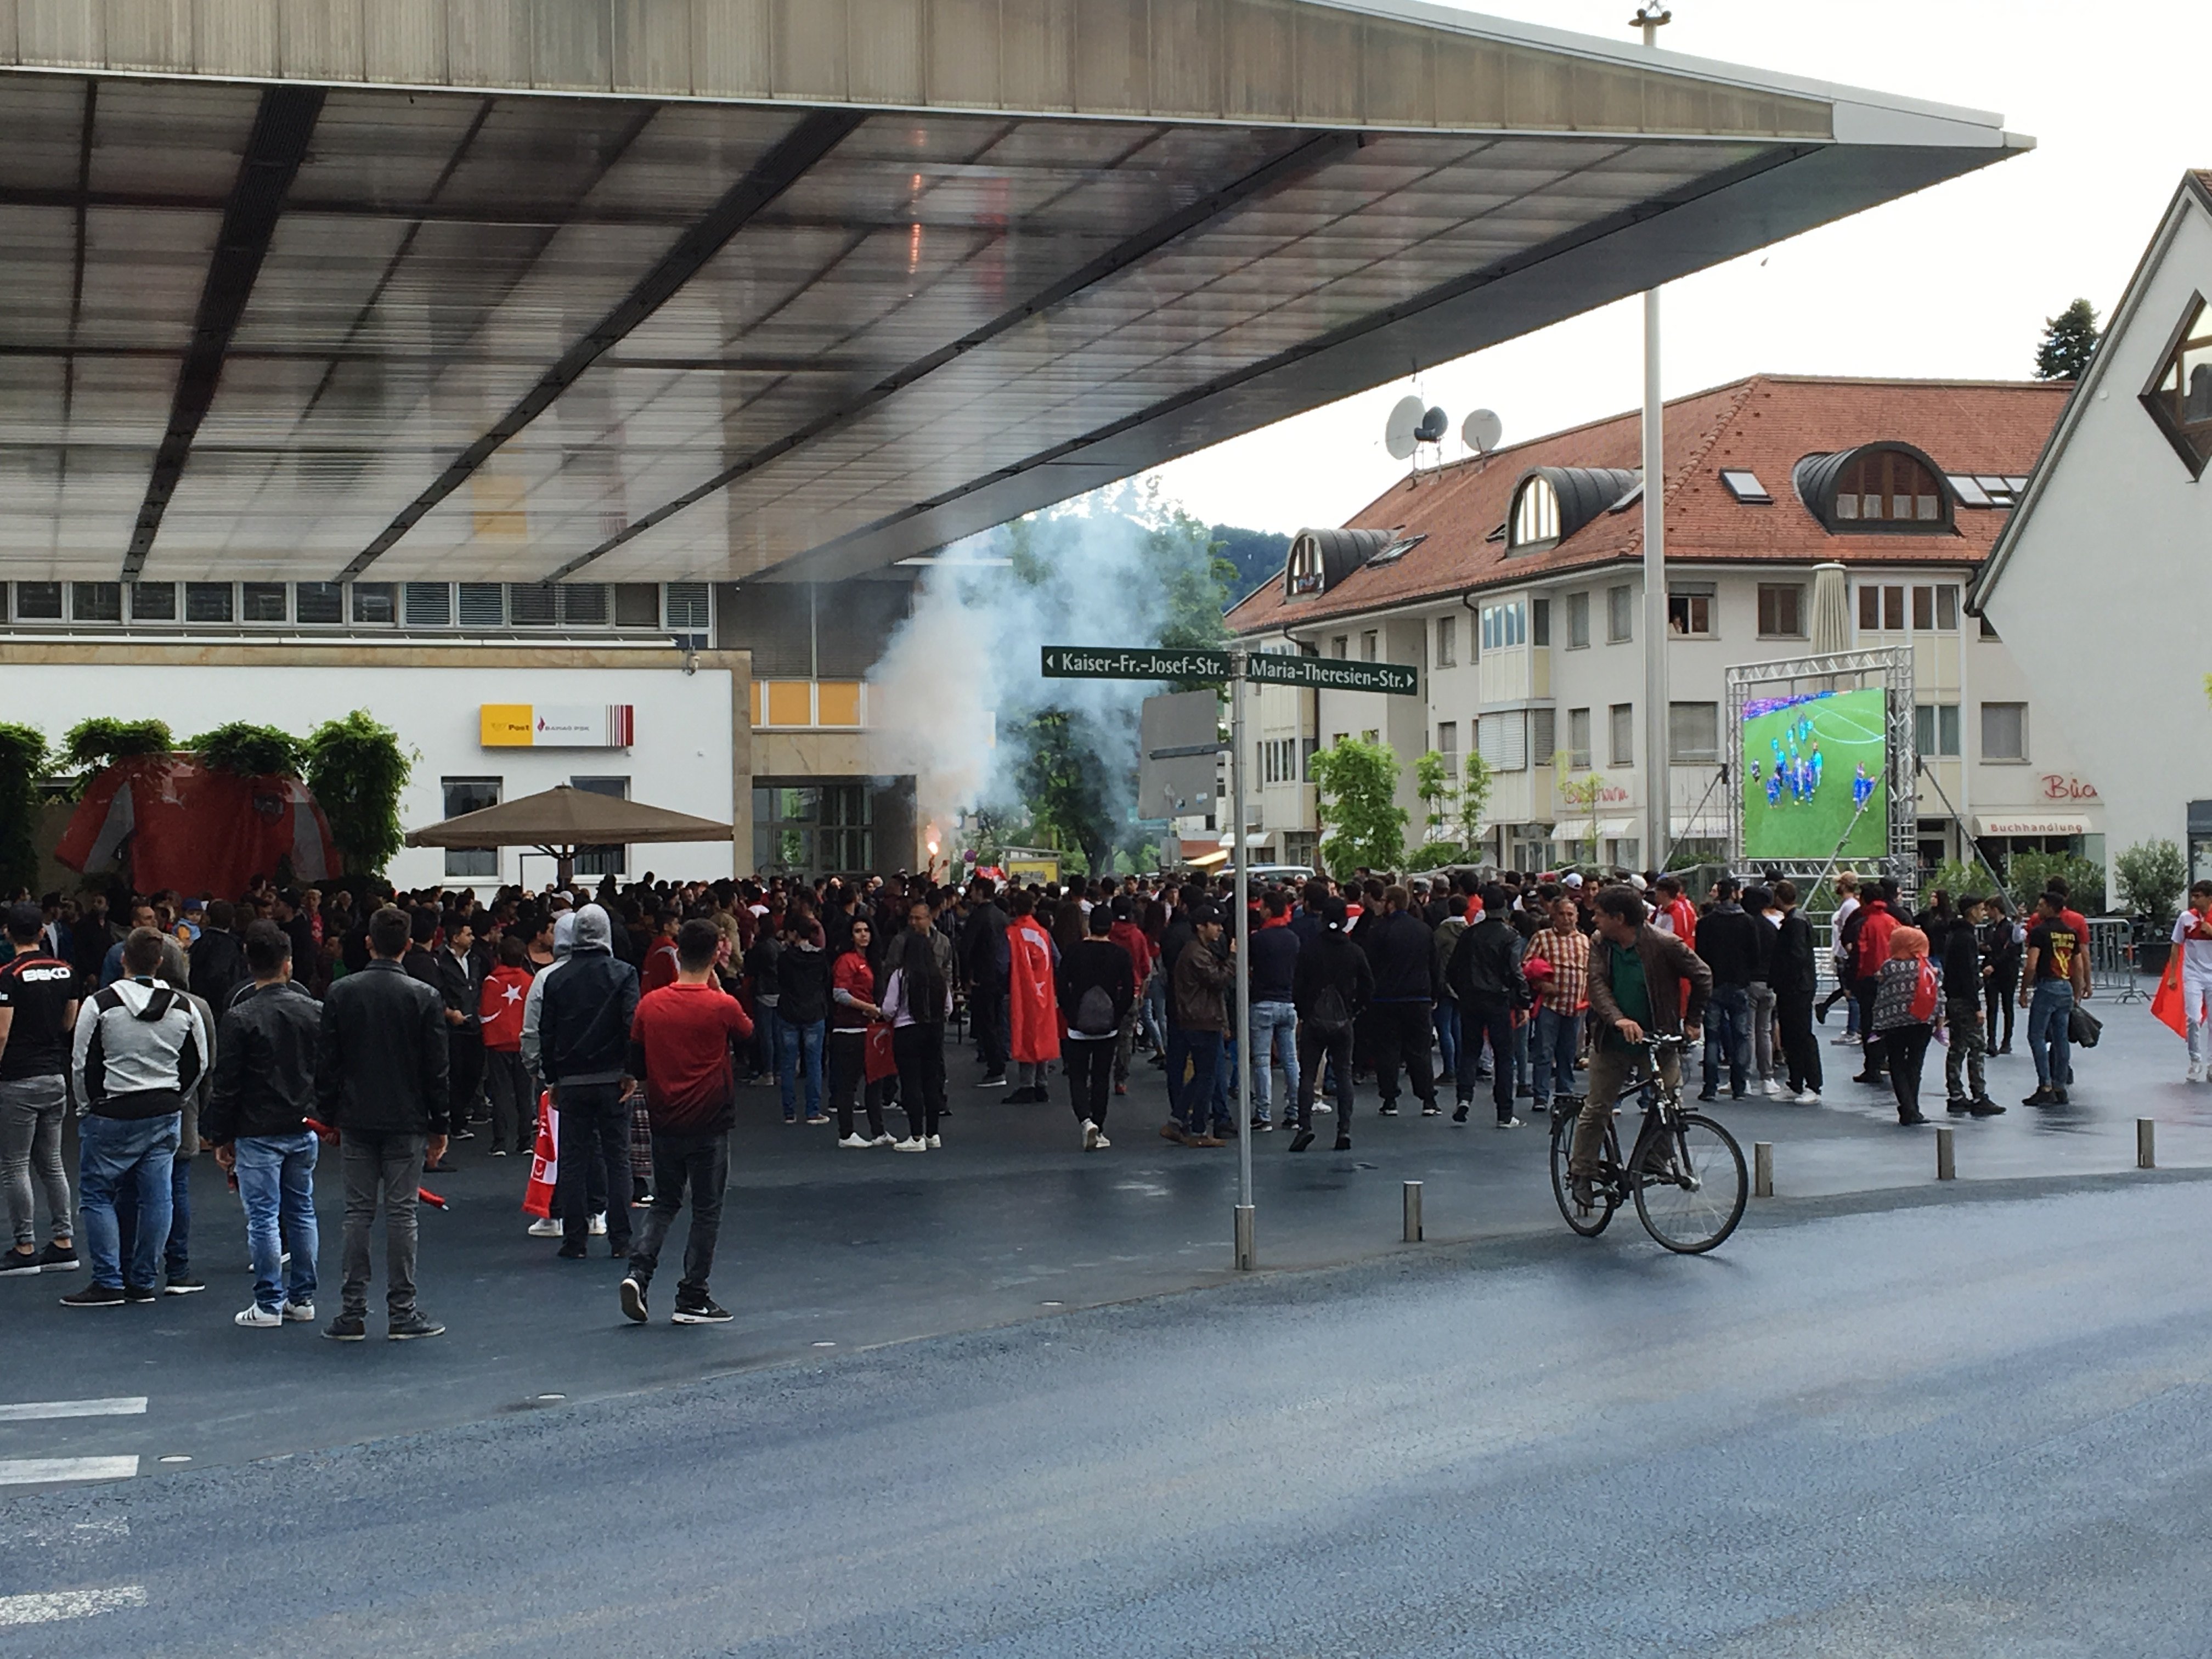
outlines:
M208 1031L190 998L155 980L161 933L139 927L124 940L128 978L77 1009L71 1082L82 1102L77 1170L84 1245L93 1283L64 1307L119 1307L159 1292L155 1274L168 1245L170 1183L184 1133L184 1095L206 1071ZM115 1194L137 1199L131 1261L122 1259Z

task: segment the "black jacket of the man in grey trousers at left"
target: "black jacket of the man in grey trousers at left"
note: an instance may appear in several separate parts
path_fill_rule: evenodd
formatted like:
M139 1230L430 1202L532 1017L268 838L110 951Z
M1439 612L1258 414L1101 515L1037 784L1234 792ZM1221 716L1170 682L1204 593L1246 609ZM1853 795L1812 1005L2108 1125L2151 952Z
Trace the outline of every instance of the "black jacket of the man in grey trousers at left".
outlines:
M451 1082L438 993L383 958L332 984L314 1097L316 1117L338 1130L429 1135L431 1124L442 1124Z

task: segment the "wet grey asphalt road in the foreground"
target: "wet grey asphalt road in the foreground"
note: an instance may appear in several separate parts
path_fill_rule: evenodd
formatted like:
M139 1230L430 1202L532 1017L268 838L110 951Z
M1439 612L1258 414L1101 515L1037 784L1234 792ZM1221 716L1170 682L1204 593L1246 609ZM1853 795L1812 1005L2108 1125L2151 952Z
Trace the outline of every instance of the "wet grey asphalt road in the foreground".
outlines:
M2201 1655L2205 1199L1447 1245L38 1493L0 1652Z

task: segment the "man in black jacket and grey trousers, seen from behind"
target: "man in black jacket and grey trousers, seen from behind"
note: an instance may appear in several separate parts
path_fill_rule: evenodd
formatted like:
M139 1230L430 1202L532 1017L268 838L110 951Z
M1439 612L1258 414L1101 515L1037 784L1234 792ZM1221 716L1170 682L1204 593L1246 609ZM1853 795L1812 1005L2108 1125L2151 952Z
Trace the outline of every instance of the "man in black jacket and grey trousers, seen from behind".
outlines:
M445 1325L416 1307L416 1199L422 1159L445 1152L451 1097L445 1004L407 975L407 911L389 905L369 918L369 960L323 998L314 1093L325 1124L338 1130L345 1166L345 1279L338 1316L323 1336L367 1336L369 1230L385 1210L385 1307L389 1336L438 1336Z

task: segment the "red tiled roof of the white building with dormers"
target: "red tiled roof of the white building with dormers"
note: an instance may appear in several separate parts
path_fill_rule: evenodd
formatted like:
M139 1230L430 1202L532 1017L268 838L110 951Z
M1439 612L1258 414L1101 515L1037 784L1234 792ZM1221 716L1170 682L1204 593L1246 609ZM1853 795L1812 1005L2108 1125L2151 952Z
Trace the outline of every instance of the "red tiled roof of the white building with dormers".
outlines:
M1809 453L1893 440L1927 451L1947 473L2020 478L2033 471L2070 389L2070 380L1836 380L1756 374L1677 398L1666 407L1668 564L1980 564L2004 529L2002 509L1960 507L1958 533L1834 535L1798 500L1794 467ZM1349 526L1405 526L1407 535L1429 540L1391 564L1363 566L1314 597L1287 599L1283 582L1274 580L1230 613L1230 628L1263 633L1641 560L1641 500L1619 513L1599 513L1544 553L1509 557L1502 540L1486 540L1504 524L1513 487L1528 469L1635 469L1641 462L1639 449L1639 416L1630 411L1391 484L1354 513ZM1721 482L1723 467L1756 473L1774 504L1739 502Z

